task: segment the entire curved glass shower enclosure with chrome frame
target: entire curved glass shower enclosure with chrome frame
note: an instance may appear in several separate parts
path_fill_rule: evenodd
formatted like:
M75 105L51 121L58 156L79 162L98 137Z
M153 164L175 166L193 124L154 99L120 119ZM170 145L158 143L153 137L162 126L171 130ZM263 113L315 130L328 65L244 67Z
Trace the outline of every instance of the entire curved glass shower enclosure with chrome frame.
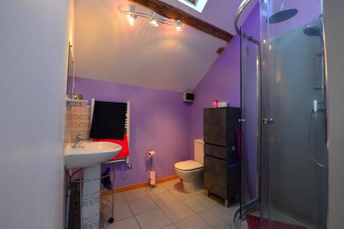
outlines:
M256 36L237 26L241 203L233 226L327 228L322 1L261 0L259 12Z

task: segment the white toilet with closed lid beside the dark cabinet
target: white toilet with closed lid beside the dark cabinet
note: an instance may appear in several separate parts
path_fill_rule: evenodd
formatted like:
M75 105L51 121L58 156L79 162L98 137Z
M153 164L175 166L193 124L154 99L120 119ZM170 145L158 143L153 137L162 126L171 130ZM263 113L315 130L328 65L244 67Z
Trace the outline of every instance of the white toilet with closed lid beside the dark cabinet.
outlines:
M175 173L182 179L184 191L195 193L203 188L204 141L195 140L194 160L175 163Z

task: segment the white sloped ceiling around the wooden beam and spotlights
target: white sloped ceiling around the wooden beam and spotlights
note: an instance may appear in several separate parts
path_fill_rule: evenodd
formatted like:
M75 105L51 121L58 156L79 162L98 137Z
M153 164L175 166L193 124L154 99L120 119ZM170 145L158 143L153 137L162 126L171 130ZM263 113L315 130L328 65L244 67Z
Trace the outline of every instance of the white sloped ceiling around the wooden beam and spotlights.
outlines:
M202 14L180 1L164 1L235 34L240 1L208 0ZM151 12L126 0L75 0L75 76L184 91L197 85L217 58L217 48L227 45L187 25L175 32L138 18L131 27L120 9Z

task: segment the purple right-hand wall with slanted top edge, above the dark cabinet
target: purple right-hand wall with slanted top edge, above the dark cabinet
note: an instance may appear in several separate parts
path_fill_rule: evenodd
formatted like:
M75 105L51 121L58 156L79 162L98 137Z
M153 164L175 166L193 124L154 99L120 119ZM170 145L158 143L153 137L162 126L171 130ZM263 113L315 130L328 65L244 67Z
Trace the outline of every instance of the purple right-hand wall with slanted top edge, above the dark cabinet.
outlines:
M255 6L243 28L259 37L259 4ZM191 106L191 140L203 138L203 109L211 107L214 99L227 101L230 107L240 107L240 37L235 35L224 53L208 69L194 89L195 102ZM193 144L191 144L191 153Z

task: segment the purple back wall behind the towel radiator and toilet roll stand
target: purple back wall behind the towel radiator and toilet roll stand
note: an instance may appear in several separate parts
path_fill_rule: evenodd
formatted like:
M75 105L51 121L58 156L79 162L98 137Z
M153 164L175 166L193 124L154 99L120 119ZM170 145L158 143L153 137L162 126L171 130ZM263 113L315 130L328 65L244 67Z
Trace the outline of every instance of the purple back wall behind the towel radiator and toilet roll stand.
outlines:
M147 181L146 152L154 149L157 177L174 175L174 164L189 159L190 107L182 93L76 78L76 93L84 99L131 102L130 162L125 180L116 173L116 187Z

